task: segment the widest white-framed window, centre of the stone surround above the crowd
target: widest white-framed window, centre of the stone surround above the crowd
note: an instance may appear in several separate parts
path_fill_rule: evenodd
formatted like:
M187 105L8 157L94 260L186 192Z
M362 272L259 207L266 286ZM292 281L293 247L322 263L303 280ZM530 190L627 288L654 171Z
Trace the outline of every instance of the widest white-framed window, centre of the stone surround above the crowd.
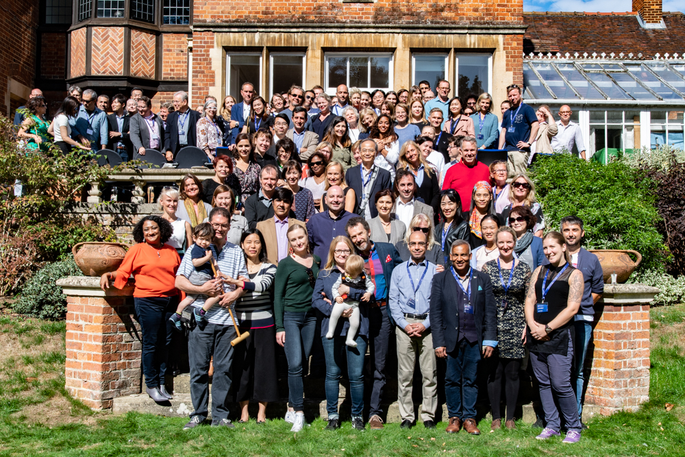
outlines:
M326 92L334 94L340 84L361 90L390 90L393 81L392 54L326 54Z

